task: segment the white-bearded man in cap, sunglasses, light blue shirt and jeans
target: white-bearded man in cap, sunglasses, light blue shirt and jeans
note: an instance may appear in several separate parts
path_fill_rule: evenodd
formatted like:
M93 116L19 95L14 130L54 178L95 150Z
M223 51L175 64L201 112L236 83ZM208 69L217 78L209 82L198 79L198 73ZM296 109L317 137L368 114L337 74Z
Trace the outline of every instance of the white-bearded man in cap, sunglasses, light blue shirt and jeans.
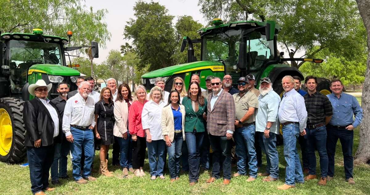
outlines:
M279 179L279 155L276 150L276 136L279 134L280 123L277 120L280 96L272 90L271 80L261 79L258 96L258 109L256 113L256 133L263 152L266 154L266 173L263 181L276 181Z

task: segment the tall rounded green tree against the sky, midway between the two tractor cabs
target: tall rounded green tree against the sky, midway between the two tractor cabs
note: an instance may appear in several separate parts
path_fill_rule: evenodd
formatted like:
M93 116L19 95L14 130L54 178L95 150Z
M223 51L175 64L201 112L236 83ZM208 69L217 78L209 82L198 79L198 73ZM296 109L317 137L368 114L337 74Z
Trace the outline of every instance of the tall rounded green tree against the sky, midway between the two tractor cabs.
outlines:
M125 25L124 36L132 39L132 45L140 59L139 68L149 71L174 65L174 28L168 10L159 3L138 1L134 6L134 18Z

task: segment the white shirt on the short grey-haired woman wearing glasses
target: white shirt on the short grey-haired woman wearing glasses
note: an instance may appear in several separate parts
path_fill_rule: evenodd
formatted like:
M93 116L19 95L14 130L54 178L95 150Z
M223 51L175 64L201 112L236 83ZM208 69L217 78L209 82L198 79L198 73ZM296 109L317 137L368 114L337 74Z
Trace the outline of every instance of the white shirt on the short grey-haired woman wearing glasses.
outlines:
M152 140L163 140L162 128L161 128L161 114L162 108L167 104L164 101L160 101L159 105L153 100L144 104L141 113L141 124L142 129L149 129Z

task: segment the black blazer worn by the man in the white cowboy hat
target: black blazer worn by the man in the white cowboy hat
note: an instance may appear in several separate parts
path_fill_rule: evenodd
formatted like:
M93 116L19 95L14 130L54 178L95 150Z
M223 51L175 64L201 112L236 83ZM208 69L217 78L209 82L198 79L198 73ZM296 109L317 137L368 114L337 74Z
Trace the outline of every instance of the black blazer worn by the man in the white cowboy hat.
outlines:
M57 107L53 102L50 105ZM34 98L23 104L23 122L26 126L26 137L24 138L24 146L34 146L34 141L41 138L41 146L50 146L54 142L61 142L62 135L62 120L59 116L59 134L54 137L54 122L49 111L38 98Z

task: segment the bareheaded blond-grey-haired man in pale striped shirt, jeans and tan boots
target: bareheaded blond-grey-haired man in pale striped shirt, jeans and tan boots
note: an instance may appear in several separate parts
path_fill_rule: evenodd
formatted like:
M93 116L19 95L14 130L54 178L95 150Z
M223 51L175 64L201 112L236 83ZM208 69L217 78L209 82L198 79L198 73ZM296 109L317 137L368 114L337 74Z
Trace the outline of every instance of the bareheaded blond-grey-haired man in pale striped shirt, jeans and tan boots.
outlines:
M292 76L282 79L284 98L279 105L279 121L283 124L284 157L286 161L285 184L277 189L295 187L295 183L304 183L302 167L296 148L299 134L305 135L307 111L305 99L294 89L295 82Z

